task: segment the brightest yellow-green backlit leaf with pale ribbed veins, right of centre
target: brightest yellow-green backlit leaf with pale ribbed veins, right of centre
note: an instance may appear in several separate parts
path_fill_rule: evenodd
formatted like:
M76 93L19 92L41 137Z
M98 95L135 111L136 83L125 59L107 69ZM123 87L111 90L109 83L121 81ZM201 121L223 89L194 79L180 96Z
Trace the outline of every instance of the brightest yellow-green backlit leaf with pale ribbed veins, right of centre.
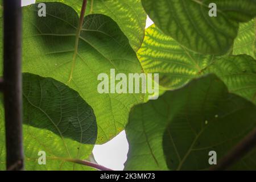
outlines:
M179 88L199 76L216 57L189 51L154 24L146 29L137 55L144 72L159 73L159 84L168 89Z

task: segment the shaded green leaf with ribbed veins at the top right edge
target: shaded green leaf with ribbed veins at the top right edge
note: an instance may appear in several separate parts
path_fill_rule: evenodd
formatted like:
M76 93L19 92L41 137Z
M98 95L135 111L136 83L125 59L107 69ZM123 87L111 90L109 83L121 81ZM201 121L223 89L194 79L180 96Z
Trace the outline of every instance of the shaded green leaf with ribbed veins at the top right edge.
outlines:
M217 17L210 17L210 3ZM193 51L225 54L237 36L238 23L256 16L255 0L142 0L146 13L165 34Z

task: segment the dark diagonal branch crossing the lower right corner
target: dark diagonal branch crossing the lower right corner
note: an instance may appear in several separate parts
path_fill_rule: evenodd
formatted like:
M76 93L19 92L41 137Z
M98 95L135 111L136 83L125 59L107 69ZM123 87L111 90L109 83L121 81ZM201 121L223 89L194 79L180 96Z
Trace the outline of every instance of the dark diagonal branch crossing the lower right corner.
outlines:
M256 128L241 140L224 158L218 161L217 166L211 167L211 171L225 170L241 159L250 150L256 147Z

